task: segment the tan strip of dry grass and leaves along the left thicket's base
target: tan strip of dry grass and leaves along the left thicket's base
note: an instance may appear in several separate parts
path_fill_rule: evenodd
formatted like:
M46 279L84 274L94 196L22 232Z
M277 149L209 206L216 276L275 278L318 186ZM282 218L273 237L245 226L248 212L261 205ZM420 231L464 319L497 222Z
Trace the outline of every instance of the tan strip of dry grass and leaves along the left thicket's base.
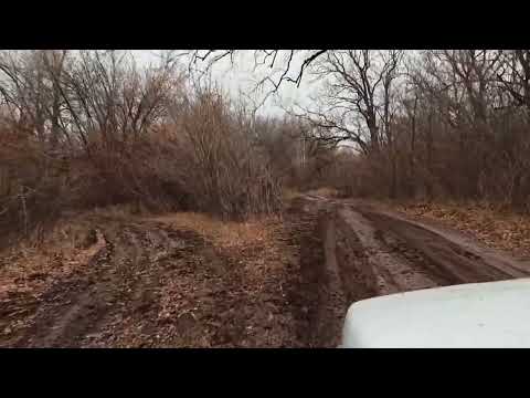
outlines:
M108 220L131 220L135 209L128 206L95 209L57 222L43 237L39 233L0 252L0 300L6 294L32 293L38 296L56 277L66 276L83 266L94 254L96 244L85 248L87 234ZM176 228L190 229L234 255L248 251L274 252L275 235L280 228L276 217L251 219L246 222L222 221L197 212L179 212L145 217ZM136 218L139 220L140 218ZM36 231L39 232L39 231Z

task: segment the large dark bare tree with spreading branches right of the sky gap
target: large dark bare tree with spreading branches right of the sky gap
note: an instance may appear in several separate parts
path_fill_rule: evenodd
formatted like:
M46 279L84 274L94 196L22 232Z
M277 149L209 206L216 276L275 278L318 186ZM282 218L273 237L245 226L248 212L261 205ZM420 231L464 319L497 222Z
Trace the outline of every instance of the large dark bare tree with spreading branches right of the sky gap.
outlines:
M300 107L297 115L327 129L328 140L352 140L365 154L379 151L382 139L392 140L392 83L401 57L400 51L327 52L315 70L326 81L320 106Z

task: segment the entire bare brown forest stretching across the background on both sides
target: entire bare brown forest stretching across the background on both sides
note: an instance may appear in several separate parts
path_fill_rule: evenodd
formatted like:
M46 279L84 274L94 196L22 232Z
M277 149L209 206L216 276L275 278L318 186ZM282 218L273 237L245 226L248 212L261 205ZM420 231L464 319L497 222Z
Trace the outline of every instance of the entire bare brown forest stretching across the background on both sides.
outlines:
M259 116L171 52L2 51L2 232L124 203L244 220L285 188L528 211L530 50L320 50L296 71L300 51L255 53L285 67L272 91L319 80L314 101Z

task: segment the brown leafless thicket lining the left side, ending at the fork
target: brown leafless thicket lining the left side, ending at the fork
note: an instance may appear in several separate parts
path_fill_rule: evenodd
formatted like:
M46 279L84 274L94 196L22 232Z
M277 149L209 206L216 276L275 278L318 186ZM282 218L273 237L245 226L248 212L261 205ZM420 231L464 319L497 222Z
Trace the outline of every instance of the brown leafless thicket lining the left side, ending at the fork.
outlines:
M244 219L280 208L256 123L176 65L116 51L0 53L0 230L134 203Z

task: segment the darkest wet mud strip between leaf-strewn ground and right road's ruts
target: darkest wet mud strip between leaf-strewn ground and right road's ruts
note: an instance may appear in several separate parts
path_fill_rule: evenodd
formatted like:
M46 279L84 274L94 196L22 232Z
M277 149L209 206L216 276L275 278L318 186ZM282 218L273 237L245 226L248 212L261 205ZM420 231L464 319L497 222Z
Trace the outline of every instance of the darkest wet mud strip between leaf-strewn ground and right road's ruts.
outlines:
M299 251L288 298L295 308L296 339L303 347L337 346L347 310L330 217L319 202L305 198L294 200L285 217Z

